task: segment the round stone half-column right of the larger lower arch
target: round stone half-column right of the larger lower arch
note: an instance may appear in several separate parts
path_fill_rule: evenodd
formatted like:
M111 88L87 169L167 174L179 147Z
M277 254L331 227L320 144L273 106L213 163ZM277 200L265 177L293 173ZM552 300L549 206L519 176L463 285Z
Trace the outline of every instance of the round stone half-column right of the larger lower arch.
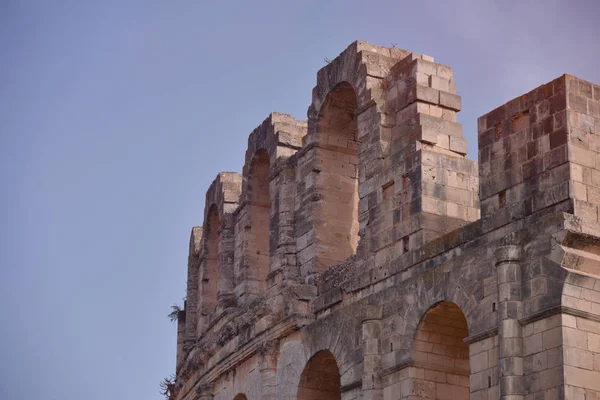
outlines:
M498 337L500 398L523 399L523 336L519 318L521 302L521 248L503 246L496 250L498 272Z

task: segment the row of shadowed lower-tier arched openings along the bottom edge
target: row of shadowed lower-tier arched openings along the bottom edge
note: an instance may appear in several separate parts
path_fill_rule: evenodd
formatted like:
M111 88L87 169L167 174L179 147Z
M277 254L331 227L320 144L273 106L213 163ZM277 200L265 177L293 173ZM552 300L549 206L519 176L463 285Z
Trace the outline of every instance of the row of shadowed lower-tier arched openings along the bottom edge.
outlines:
M392 388L395 399L468 400L470 396L467 321L452 302L431 307L416 329L411 349L411 369ZM344 388L334 354L320 350L305 364L297 400L341 400ZM238 394L233 400L247 400Z

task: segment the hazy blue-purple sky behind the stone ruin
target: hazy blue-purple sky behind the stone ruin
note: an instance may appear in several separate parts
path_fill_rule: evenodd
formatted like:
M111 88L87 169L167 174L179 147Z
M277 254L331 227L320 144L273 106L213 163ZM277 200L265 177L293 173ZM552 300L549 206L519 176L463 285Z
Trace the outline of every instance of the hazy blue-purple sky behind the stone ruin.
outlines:
M597 0L0 0L0 399L161 399L206 189L352 41L452 66L477 159L598 38Z

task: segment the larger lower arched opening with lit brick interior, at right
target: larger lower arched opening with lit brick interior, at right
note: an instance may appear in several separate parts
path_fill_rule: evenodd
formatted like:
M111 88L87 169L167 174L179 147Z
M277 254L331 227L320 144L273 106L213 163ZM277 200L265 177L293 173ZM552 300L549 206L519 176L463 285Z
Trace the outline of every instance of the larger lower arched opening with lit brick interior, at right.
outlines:
M412 399L469 399L469 346L467 320L460 308L445 301L430 308L415 333L412 359L415 369Z

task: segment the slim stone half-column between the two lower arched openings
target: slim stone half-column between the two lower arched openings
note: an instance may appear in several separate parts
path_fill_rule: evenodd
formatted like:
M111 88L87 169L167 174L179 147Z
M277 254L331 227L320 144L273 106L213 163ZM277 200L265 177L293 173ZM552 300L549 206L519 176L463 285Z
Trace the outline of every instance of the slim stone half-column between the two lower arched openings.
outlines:
M379 332L381 330L381 308L367 307L367 312L362 321L363 337L363 378L362 390L364 400L382 400L381 378L381 344Z

